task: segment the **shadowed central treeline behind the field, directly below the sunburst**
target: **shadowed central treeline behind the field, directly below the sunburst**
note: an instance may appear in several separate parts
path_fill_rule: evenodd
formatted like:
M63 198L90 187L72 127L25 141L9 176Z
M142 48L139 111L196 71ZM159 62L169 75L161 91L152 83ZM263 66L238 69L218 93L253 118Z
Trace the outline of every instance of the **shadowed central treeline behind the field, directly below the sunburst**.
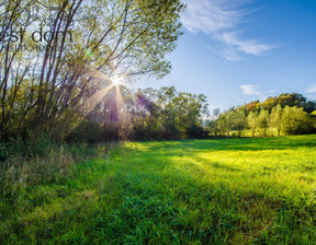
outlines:
M202 122L207 114L203 94L178 92L174 86L133 93L122 86L120 91L111 90L67 140L100 142L205 138L207 131Z

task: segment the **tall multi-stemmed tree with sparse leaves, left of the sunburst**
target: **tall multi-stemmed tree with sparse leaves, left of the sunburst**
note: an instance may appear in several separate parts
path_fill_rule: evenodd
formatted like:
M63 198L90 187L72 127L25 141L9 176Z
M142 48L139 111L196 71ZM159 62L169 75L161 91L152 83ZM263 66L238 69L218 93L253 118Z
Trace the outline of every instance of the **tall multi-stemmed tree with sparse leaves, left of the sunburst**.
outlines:
M2 138L24 130L34 137L45 133L60 139L105 96L115 77L132 81L142 74L162 78L170 71L166 55L181 35L184 5L180 0L41 3L45 4L35 0L1 4L4 32L1 30L0 39L7 34L12 37L8 30L18 31L21 22L24 37L14 50L10 49L12 42L0 42ZM55 12L47 15L45 5L49 4ZM38 10L41 18L30 15L30 9ZM49 25L42 26L44 20ZM49 38L41 43L41 49L22 50L21 46L34 45L34 26L49 32Z

